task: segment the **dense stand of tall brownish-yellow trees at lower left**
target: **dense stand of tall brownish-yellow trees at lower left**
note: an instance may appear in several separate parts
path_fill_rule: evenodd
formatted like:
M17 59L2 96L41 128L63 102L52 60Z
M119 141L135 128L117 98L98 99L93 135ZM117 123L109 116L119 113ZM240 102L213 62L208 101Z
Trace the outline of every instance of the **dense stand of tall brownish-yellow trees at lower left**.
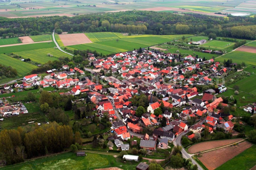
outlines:
M72 128L52 122L36 126L25 132L21 127L0 132L0 157L7 164L23 162L25 158L61 152L72 143L81 144L80 133L73 135Z

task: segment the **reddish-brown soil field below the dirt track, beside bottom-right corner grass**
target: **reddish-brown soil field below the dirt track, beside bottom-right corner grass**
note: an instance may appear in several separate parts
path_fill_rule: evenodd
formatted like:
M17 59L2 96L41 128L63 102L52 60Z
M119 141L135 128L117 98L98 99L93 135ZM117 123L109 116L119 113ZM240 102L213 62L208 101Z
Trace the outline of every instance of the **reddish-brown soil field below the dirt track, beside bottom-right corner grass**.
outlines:
M213 170L251 146L252 144L246 141L236 146L203 153L201 157L198 157L198 159L206 166L206 168Z

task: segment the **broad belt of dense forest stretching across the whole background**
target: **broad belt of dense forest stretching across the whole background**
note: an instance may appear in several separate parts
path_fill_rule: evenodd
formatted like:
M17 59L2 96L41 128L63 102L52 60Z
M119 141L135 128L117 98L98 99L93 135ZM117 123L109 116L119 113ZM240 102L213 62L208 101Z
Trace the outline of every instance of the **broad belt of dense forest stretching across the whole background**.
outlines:
M127 32L139 34L200 34L216 33L219 37L255 39L255 17L228 18L200 14L177 15L154 11L96 13L74 17L49 16L38 18L0 18L3 38L60 32Z

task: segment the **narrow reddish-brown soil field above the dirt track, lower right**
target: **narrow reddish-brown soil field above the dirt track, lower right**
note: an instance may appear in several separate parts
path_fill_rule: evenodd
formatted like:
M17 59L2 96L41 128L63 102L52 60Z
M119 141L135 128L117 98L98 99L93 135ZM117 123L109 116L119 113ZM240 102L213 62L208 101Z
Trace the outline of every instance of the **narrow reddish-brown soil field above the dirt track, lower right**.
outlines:
M198 144L195 144L195 145L192 145L191 147L189 147L188 152L189 153L197 153L197 152L206 151L209 149L219 148L219 147L237 142L239 140L241 140L241 138L201 142L201 143L198 143Z

